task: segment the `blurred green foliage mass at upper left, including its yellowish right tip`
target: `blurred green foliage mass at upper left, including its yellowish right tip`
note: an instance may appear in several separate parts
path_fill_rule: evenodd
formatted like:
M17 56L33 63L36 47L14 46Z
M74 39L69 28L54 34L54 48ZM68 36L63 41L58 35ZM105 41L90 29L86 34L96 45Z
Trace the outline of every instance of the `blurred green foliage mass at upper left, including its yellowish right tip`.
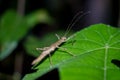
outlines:
M38 23L52 24L54 21L45 9L27 16L13 10L6 11L0 20L0 60L9 56L28 31Z

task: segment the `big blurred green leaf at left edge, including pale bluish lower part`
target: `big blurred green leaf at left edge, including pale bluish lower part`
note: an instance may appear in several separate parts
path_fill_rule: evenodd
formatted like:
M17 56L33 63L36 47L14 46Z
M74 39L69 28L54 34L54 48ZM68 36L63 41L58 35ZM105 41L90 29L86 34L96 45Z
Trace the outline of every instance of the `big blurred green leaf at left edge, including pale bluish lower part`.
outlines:
M6 58L17 46L29 27L26 20L12 10L4 13L0 22L0 60Z

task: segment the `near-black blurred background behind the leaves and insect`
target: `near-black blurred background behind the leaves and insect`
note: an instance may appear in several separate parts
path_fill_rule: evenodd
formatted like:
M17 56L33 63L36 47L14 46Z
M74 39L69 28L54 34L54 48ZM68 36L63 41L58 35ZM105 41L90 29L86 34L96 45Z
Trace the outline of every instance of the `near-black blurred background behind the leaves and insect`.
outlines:
M0 0L0 15L8 9L13 9L22 16L42 8L47 9L50 15L55 18L56 24L52 28L48 27L49 25L45 23L35 25L29 33L39 36L56 30L56 26L57 29L65 30L73 16L78 12L81 12L79 16L88 12L90 13L78 19L74 27L72 27L74 31L95 23L105 23L116 27L120 26L119 5L119 0ZM39 28L38 26L45 27ZM19 42L17 48L9 57L0 62L0 77L3 77L0 79L13 80L13 75L23 77L25 74L32 72L30 64L34 57L26 54L22 45L23 41L24 39ZM21 54L21 51L24 54ZM19 52L19 54L16 54L16 52ZM20 64L17 64L17 62ZM53 71L54 73L58 73L57 69ZM59 79L58 75L56 74L57 79ZM47 80L44 76L42 78L43 80Z

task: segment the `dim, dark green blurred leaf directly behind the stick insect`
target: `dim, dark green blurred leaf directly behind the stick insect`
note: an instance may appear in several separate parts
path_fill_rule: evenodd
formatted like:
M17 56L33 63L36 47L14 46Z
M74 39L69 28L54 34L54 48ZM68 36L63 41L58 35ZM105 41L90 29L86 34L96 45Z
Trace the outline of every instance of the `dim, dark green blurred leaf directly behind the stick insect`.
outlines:
M58 38L57 36L55 36L55 33L58 35L60 34L59 37L62 37L65 34L65 31L54 31L54 32L45 34L42 38L36 38L35 36L32 36L32 35L29 36L27 38L27 41L25 41L24 43L27 53L35 57L39 56L41 51L37 51L36 48L47 47L55 43L56 41L58 41ZM73 31L71 30L68 36L72 34L73 34Z

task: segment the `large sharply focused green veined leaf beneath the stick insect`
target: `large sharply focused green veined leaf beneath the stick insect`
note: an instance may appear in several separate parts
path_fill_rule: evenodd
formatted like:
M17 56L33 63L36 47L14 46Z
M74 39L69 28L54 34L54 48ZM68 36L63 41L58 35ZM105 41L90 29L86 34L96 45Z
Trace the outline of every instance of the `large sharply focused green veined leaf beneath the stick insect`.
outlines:
M52 55L53 68L46 59L23 80L35 80L54 68L59 69L60 80L120 80L120 68L111 62L120 60L120 29L92 25L69 37L60 47L76 56L58 49Z

